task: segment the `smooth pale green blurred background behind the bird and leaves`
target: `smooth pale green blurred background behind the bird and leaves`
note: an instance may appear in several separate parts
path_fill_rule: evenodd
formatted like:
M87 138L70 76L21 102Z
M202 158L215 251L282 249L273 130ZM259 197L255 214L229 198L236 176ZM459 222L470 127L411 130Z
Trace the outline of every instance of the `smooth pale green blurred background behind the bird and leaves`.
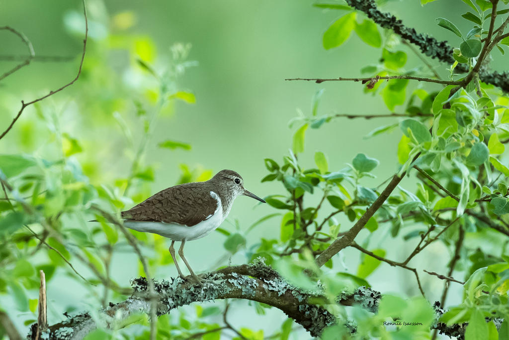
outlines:
M44 110L53 111L59 117L63 132L80 140L92 140L83 146L76 158L89 169L95 181L108 181L114 177L126 176L132 158L132 149L126 145L120 126L107 130L101 122L113 120L118 111L125 118L134 135L135 145L140 136L141 126L137 124L131 96L136 92L138 82L147 82L146 74L136 68L129 48L118 48L122 36L129 35L153 44L153 65L162 69L171 55L169 48L175 43L192 45L189 60L199 64L186 70L179 78L178 88L192 92L195 104L176 102L175 108L167 108L159 118L154 137L147 148L147 162L157 163L155 181L150 193L175 185L179 176L179 164L191 168L221 169L239 172L248 190L259 196L283 193L280 184L261 183L266 169L264 158L280 161L288 154L292 134L297 126L288 127L291 118L301 110L309 115L313 94L324 88L320 114L384 114L389 113L379 95L363 93L360 83L331 82L288 82L288 77L355 77L360 68L374 64L380 58L379 49L367 46L352 35L341 47L325 50L322 34L343 11L322 10L312 7L313 1L88 1L90 39L84 61L82 77L65 91L41 103ZM30 99L58 88L75 75L78 55L81 50L82 27L81 4L78 1L0 1L0 25L11 25L30 38L36 55L71 56L68 62L33 62L0 84L0 127L4 129L17 113L21 99ZM457 19L466 10L458 1L442 0L425 7L417 0L391 1L384 8L403 19L417 31L434 35L451 44L459 44L459 38L435 24L435 13L450 13L449 18ZM443 15L443 14L441 14ZM460 29L467 27L465 20L455 22ZM76 32L78 30L78 32ZM118 39L112 38L118 37ZM134 38L133 38L134 39ZM1 54L24 54L24 46L12 35L0 32ZM409 59L407 69L421 66L420 60L406 48ZM496 54L495 54L496 55ZM108 72L101 76L94 73L95 64L106 62ZM505 60L506 61L506 60ZM448 65L438 64L437 70L445 74ZM501 69L503 58L495 60L494 69ZM0 62L2 70L12 63ZM103 70L96 70L103 72ZM99 79L97 83L87 82ZM85 86L86 85L86 86ZM411 84L410 89L420 86ZM429 86L429 85L427 85ZM439 89L440 87L428 87ZM410 89L408 91L410 91ZM132 91L131 91L132 90ZM124 102L113 96L123 93ZM408 96L407 92L407 96ZM143 94L136 94L143 96ZM111 98L109 98L111 96ZM110 105L96 107L94 98L111 99ZM150 108L149 108L150 109ZM399 109L399 111L398 111ZM35 108L25 110L10 134L0 143L0 153L19 151L35 153L51 159L52 150L45 147L51 141L44 123L37 118ZM396 112L402 113L401 107ZM366 185L375 186L397 170L396 145L401 132L365 140L362 137L373 128L395 122L395 119L348 120L337 119L324 124L319 130L308 129L305 153L300 161L312 167L315 151L328 156L329 169L341 169L353 157L363 152L380 160L376 171L377 179L367 179ZM110 126L115 126L110 124ZM170 151L157 147L157 143L172 139L190 143L190 151ZM411 187L407 180L403 186ZM225 229L234 230L233 221L238 219L241 230L245 230L258 218L274 212L268 205L258 205L247 197L240 197L234 205ZM342 220L342 230L351 223ZM269 220L256 228L248 237L248 248L260 237L279 233L279 221ZM360 238L366 234L361 233ZM204 239L189 242L186 255L195 270L212 270L223 258L224 236L212 233ZM399 259L413 244L387 246L394 242L387 230L381 227L372 237L371 245L384 244L389 249L387 257ZM169 242L168 242L169 245ZM150 249L144 249L150 254ZM446 257L447 250L440 244L433 244L426 254L419 256L416 266L431 271L443 272L445 261L437 263L436 258ZM355 274L359 260L356 250L345 249L337 261L336 268L350 270ZM245 263L244 254L238 253L232 264ZM342 263L342 265L340 264ZM219 264L228 264L222 260ZM87 273L79 264L76 267ZM137 275L138 259L130 252L115 254L112 276L127 284ZM173 266L165 267L156 277L176 275ZM416 294L415 284L407 272L382 264L370 276L374 289L395 292L402 295ZM422 276L422 283L431 301L439 299L442 282L434 277ZM400 284L400 286L398 285ZM414 287L413 291L401 291L401 287ZM31 298L36 294L31 292ZM48 297L52 301L49 309L50 323L62 319L62 312L70 306L87 309L89 295L65 275L56 276L48 286ZM460 292L451 291L450 303L460 301ZM277 310L269 316L257 316L246 304L239 304L238 312L232 313L231 322L253 328L271 329L278 327L286 317ZM270 317L272 315L273 317ZM16 319L22 329L20 315ZM295 337L306 333L296 333Z

